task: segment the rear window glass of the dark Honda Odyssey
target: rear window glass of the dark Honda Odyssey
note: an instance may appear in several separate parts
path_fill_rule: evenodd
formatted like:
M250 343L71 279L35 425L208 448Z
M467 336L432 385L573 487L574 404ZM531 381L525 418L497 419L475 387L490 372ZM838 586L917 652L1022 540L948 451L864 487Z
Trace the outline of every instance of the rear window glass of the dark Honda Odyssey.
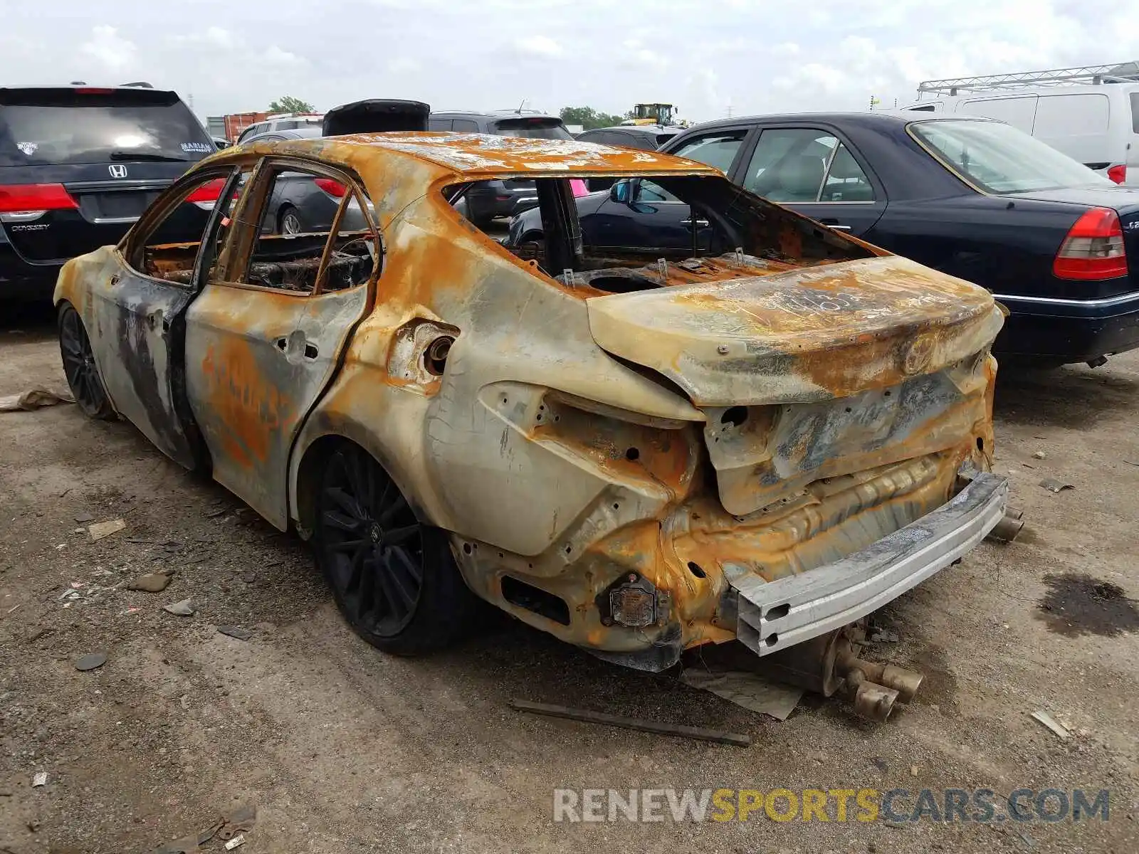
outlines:
M215 150L174 92L0 90L0 165L192 162Z

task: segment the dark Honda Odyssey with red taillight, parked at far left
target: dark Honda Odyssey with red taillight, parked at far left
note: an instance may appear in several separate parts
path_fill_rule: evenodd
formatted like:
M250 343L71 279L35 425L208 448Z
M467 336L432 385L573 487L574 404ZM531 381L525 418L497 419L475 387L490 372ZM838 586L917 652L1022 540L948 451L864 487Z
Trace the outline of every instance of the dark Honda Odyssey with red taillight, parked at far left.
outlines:
M0 299L50 296L65 261L118 243L216 150L174 92L0 87ZM188 198L171 238L198 239L214 200Z

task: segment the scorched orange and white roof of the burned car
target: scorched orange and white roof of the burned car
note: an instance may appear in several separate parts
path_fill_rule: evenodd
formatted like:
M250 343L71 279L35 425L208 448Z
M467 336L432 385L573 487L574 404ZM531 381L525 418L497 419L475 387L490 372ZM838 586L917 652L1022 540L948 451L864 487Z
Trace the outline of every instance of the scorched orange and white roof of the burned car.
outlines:
M243 153L295 154L344 163L361 171L380 158L413 159L437 167L437 176L538 173L720 175L711 166L656 151L599 146L573 139L495 137L487 133L392 132L268 141L246 140L227 157ZM229 154L232 153L232 154Z

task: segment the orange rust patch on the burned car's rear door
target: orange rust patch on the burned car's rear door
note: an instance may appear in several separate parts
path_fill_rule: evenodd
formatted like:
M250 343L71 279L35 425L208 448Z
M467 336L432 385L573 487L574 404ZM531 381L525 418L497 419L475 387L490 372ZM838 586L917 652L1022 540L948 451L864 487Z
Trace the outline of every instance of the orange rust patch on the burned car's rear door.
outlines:
M269 459L270 436L295 418L290 401L257 370L253 350L239 339L211 344L202 360L210 407L226 432L220 436L228 457L243 468Z

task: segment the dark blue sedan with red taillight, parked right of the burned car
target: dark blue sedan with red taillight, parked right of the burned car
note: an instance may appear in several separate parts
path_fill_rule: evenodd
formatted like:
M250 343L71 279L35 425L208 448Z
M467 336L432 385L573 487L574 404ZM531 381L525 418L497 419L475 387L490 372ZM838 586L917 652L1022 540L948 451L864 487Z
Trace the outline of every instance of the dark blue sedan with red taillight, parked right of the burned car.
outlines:
M982 285L1010 311L995 350L1038 366L1139 347L1139 190L1000 122L883 113L735 118L662 150L833 229ZM599 246L699 249L707 223L650 181L577 199ZM528 212L508 241L539 239Z

